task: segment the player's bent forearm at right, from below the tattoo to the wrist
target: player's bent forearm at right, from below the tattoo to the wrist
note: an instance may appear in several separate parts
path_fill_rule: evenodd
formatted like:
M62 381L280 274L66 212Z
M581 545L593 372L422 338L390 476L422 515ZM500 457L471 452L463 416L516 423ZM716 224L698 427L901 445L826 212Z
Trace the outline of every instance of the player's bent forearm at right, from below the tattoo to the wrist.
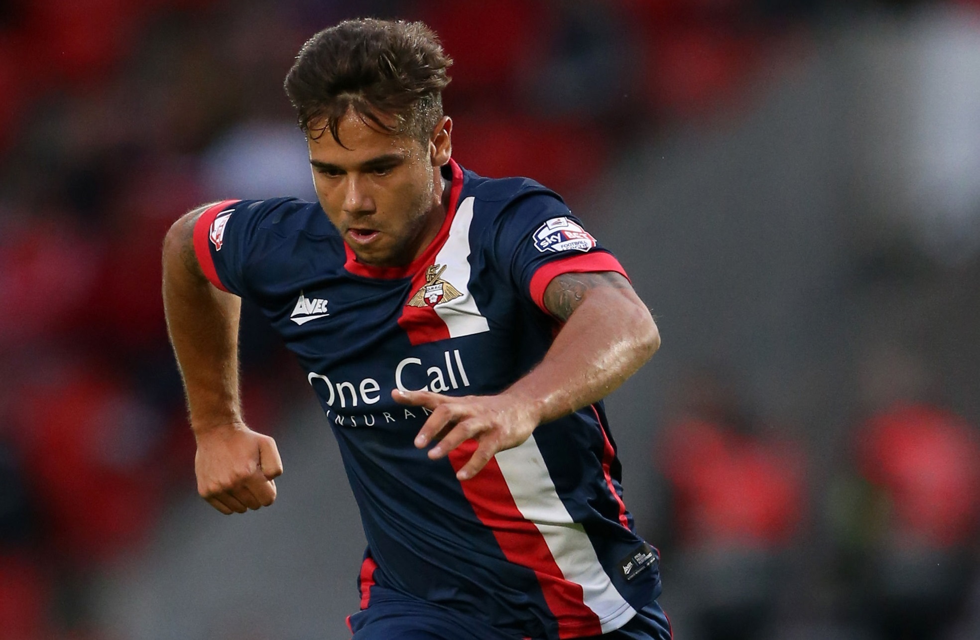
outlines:
M650 312L626 286L583 291L544 360L508 389L534 403L541 422L603 399L660 347Z

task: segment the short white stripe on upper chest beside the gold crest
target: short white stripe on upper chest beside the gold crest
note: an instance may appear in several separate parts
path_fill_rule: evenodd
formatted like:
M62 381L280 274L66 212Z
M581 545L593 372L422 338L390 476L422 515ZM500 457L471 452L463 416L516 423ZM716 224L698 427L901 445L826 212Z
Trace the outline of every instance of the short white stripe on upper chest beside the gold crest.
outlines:
M456 210L449 227L449 237L435 257L436 265L445 265L442 279L455 286L463 295L433 307L449 328L451 338L490 330L487 319L480 315L476 301L469 293L469 224L473 222L473 198L466 198Z

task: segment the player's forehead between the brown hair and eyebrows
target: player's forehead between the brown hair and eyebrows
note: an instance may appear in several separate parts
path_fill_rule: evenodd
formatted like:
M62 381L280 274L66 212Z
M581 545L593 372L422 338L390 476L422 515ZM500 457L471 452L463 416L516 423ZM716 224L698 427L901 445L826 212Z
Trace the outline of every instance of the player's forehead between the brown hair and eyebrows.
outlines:
M391 134L371 126L353 111L348 111L337 125L343 145L337 143L325 128L325 121L311 123L317 137L308 136L310 159L338 167L359 165L378 156L399 154L411 158L421 151L421 144L406 133Z

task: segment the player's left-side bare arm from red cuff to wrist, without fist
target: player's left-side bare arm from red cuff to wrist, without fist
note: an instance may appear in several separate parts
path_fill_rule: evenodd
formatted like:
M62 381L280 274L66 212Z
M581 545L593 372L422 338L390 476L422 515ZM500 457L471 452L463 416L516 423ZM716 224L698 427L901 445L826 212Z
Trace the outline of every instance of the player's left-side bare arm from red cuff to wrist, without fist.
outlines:
M240 423L238 319L241 300L213 286L200 271L189 214L164 243L164 308L195 433Z

